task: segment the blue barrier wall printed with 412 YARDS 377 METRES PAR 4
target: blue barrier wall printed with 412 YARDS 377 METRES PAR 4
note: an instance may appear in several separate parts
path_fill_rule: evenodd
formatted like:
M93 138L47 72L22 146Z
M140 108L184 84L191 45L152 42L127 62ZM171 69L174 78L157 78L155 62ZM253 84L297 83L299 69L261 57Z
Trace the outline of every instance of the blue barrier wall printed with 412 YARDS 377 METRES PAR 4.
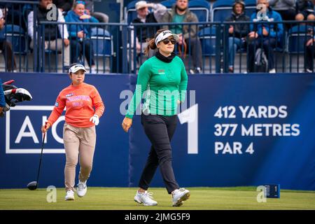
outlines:
M40 127L43 116L49 116L50 111L23 111L22 106L52 106L58 92L69 85L69 78L41 73L0 73L0 78L15 79L18 87L25 87L34 97L31 102L20 104L21 110L10 111L9 118L0 119L0 188L23 188L36 178L40 151L13 152L41 148ZM97 87L106 105L97 127L97 150L89 186L137 186L150 143L140 116L135 116L129 134L120 125L120 106L125 103L120 92L133 90L135 80L127 75L86 77L87 83ZM315 190L314 73L189 76L188 90L195 90L195 98L188 97L187 102L191 106L197 104L190 109L197 107L193 120L197 118L198 145L188 149L188 126L193 127L193 123L179 123L172 153L180 186L279 183L281 188ZM30 123L34 127L38 144L32 137L18 141L23 123L28 124L25 132L31 132ZM56 133L62 137L62 122ZM45 148L63 148L52 137L52 130ZM193 151L197 153L192 154ZM63 186L64 160L64 154L43 155L41 187ZM164 186L159 171L152 186Z

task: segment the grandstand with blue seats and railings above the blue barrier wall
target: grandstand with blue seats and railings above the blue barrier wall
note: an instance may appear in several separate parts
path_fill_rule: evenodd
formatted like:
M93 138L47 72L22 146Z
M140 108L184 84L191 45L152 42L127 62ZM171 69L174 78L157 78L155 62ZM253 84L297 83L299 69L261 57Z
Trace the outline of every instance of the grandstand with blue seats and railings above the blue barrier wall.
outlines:
M144 55L137 55L130 53L127 44L130 43L132 35L131 33L137 27L130 26L130 22L137 16L135 10L135 3L137 1L123 1L123 3L116 3L116 1L107 1L107 3L116 4L115 12L109 11L107 8L102 8L102 12L106 14L115 13L116 17L112 17L109 23L97 23L87 24L94 27L92 29L92 36L88 41L92 42L95 65L99 74L106 73L136 73L137 70L132 70L132 66L128 63L127 54L130 57L134 57L137 62L143 62L146 58ZM155 1L160 2L167 7L167 10L171 10L174 0ZM232 12L232 4L234 0L218 0L218 1L206 1L206 0L191 0L189 1L190 10L197 15L199 23L191 24L196 25L199 29L198 37L202 43L202 73L226 73L228 72L228 32L226 27L232 25L228 22L224 22L225 18ZM250 16L255 12L255 1L246 0L246 15ZM95 1L94 4L103 4L104 2ZM43 49L43 30L49 29L49 27L55 27L57 34L58 22L40 22L34 29L32 36L37 36L36 48L38 50L32 50L30 48L30 34L28 34L28 21L27 15L31 10L38 7L37 1L6 1L1 3L1 8L8 8L8 18L6 19L6 26L3 28L3 36L13 43L13 51L15 55L15 61L17 63L17 71L32 72L32 71L48 71L48 72L64 72L66 67L62 63L61 51ZM22 13L14 15L10 13L10 8L15 8L16 11ZM16 7L19 7L16 9ZM121 8L121 10L119 10ZM19 17L20 18L19 18ZM10 19L12 17L12 19ZM14 19L13 19L14 17ZM18 18L17 18L18 17ZM13 22L11 22L13 21ZM253 22L248 22L253 23ZM236 25L237 23L234 23ZM305 48L304 43L308 38L311 38L309 29L314 27L314 22L305 25L304 22L283 21L281 22L285 29L281 36L281 41L277 43L274 48L275 51L275 66L276 71L279 73L286 72L304 72L304 56ZM286 25L292 25L292 28L287 29ZM63 26L69 26L69 22L63 24ZM79 24L77 24L79 25ZM142 26L144 25L137 25ZM148 27L150 25L146 25ZM59 34L57 34L59 35ZM191 55L190 49L187 50L188 55L184 59L187 66L187 71L190 71ZM134 50L136 52L136 50ZM3 52L2 52L3 53ZM134 55L133 55L134 54ZM80 61L85 62L87 60L84 57L79 58ZM243 48L238 50L235 56L235 73L247 73L247 61L248 61L248 49ZM140 63L141 64L141 63ZM137 65L139 68L139 63ZM6 71L6 63L3 57L0 57L0 71Z

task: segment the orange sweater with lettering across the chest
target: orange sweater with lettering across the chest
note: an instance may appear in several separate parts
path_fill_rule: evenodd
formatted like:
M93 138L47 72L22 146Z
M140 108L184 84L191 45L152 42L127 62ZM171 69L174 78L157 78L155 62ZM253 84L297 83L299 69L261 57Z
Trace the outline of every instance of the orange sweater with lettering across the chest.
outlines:
M90 118L94 114L100 118L105 109L97 89L86 83L78 86L69 85L59 93L55 107L48 118L50 125L61 116L65 106L66 123L75 127L92 127L94 124L90 122Z

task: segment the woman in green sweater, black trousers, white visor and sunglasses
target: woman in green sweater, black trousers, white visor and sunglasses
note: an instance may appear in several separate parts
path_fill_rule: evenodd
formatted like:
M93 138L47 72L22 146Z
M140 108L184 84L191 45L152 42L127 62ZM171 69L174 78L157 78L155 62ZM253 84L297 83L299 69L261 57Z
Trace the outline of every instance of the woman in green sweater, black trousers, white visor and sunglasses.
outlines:
M183 61L174 53L174 45L178 40L179 36L167 29L158 30L155 38L148 40L145 53L148 53L149 48L158 48L158 51L141 65L136 90L122 123L123 130L128 132L134 112L146 92L141 124L152 146L134 201L147 206L158 204L153 200L152 193L147 191L158 166L167 192L172 194L174 207L181 206L190 196L189 190L179 188L175 180L170 144L176 130L177 104L185 100L188 82Z

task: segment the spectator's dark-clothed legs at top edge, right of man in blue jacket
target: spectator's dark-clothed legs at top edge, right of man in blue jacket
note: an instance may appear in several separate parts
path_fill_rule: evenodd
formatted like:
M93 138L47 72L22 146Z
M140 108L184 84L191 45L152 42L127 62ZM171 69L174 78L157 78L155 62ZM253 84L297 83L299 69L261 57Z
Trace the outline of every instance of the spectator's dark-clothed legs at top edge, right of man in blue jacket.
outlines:
M282 20L295 20L295 0L269 0L269 5L281 15Z

